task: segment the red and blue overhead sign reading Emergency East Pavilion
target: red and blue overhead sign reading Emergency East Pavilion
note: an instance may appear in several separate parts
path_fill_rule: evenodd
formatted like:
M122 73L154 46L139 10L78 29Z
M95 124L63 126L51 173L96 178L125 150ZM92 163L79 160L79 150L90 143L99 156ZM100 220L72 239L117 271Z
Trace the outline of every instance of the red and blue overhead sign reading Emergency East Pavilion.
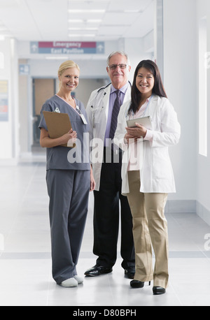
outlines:
M32 41L30 52L32 54L104 54L104 42Z

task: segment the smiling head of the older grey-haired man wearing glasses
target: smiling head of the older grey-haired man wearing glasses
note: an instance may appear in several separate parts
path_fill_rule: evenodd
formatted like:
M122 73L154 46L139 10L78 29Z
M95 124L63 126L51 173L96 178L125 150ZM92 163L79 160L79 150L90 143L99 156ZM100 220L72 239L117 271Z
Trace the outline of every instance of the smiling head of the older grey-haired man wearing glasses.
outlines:
M111 83L116 89L122 88L127 83L128 75L130 73L130 66L127 65L125 68L120 68L119 65L127 65L127 58L121 54L114 54L109 59L109 67L106 68ZM113 68L113 66L116 67Z

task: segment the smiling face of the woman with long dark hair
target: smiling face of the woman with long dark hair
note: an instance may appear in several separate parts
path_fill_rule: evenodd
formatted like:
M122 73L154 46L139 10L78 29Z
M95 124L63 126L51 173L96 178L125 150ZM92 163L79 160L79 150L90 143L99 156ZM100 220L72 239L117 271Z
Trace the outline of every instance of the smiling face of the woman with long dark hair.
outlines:
M148 69L141 67L137 72L136 86L141 95L148 98L153 93L155 78Z

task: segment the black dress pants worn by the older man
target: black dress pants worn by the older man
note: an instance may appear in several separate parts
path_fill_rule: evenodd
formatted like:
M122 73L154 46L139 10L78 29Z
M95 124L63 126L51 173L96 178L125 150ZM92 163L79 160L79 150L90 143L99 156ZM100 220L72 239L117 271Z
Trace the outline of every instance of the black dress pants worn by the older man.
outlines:
M100 189L94 191L93 253L98 256L99 266L112 268L116 263L120 209L120 254L123 258L122 267L126 269L135 265L132 214L127 197L121 194L122 154L120 152L119 161L116 163L113 160L113 152L111 156L111 161L106 162L106 149L104 148Z

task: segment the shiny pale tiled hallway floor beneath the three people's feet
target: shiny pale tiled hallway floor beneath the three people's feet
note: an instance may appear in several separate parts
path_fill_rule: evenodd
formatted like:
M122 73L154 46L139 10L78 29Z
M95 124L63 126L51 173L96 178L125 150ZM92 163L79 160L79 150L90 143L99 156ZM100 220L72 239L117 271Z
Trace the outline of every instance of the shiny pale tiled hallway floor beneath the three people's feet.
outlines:
M131 289L120 256L112 273L65 289L51 276L45 162L0 166L0 176L1 306L210 306L210 226L196 214L167 214L170 278L165 295L153 296L153 283ZM95 264L92 203L90 194L78 275Z

